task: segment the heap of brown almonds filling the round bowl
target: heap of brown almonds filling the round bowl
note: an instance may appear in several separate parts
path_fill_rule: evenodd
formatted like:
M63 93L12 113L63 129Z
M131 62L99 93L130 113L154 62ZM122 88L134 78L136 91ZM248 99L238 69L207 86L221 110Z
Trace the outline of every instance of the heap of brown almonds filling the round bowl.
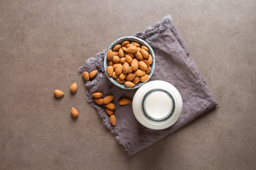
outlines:
M107 61L107 75L119 84L133 87L149 79L153 58L145 45L125 40L108 50Z

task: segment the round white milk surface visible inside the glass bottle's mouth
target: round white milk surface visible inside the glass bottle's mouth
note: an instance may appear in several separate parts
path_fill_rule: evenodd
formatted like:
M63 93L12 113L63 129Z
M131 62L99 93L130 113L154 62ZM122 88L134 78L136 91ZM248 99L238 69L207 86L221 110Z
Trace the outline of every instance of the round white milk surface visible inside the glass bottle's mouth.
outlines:
M173 108L171 98L164 91L154 91L146 97L144 107L151 118L165 118Z

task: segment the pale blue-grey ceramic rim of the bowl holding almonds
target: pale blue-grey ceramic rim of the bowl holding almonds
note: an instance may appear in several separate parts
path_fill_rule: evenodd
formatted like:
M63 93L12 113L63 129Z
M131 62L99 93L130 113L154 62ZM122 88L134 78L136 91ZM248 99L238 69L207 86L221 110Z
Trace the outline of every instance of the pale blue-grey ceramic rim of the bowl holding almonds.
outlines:
M103 67L104 67L104 71L107 75L107 79L109 79L112 84L114 84L115 86L118 86L120 89L129 89L129 90L132 90L132 89L138 89L140 86L142 86L143 84L146 84L147 81L149 81L149 79L147 79L146 81L144 82L140 82L139 84L136 84L135 86L133 87L126 87L124 86L124 84L119 84L115 79L113 79L112 77L109 77L109 75L107 74L107 52L112 49L114 47L114 45L117 45L119 42L122 42L124 40L134 40L135 42L139 42L140 44L143 44L145 45L146 47L149 48L149 54L152 56L152 64L151 64L151 71L149 72L149 79L151 78L152 74L154 73L154 68L155 68L155 55L154 55L154 50L151 48L151 46L144 40L142 40L141 38L137 38L137 37L133 37L133 36L124 36L122 38L118 38L117 40L114 40L114 42L112 42L110 44L110 46L108 47L107 51L106 51L106 54L105 54L105 57L104 57L104 64L103 64Z

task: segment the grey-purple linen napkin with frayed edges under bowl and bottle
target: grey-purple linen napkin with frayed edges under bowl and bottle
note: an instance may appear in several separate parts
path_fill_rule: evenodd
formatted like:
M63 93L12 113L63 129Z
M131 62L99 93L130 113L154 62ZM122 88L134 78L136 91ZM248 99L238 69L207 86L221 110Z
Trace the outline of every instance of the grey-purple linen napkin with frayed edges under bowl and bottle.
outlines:
M129 155L153 145L171 132L178 130L202 113L206 113L218 103L211 94L206 82L189 55L181 35L171 21L171 16L166 16L154 26L146 28L144 32L134 36L142 38L154 50L156 67L151 80L164 80L176 86L183 98L183 111L178 121L165 130L150 130L141 125L132 112L132 103L119 106L122 97L133 98L137 90L124 90L114 86L108 79L103 68L103 59L106 50L97 53L85 61L80 67L80 73L98 69L97 77L85 82L87 89L87 102L96 108L103 122L114 133L116 139L127 150ZM105 107L97 105L92 99L92 94L101 91L104 96L114 95L116 105L114 114L117 125L110 125L110 118L105 112Z

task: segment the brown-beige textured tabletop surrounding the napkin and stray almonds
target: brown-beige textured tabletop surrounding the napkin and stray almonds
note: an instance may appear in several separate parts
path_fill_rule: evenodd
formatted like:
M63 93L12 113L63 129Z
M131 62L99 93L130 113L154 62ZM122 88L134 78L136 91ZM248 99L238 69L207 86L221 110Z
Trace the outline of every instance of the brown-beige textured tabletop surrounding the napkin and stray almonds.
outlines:
M255 8L253 0L1 0L0 169L254 169ZM220 106L129 157L86 103L78 67L168 14Z

